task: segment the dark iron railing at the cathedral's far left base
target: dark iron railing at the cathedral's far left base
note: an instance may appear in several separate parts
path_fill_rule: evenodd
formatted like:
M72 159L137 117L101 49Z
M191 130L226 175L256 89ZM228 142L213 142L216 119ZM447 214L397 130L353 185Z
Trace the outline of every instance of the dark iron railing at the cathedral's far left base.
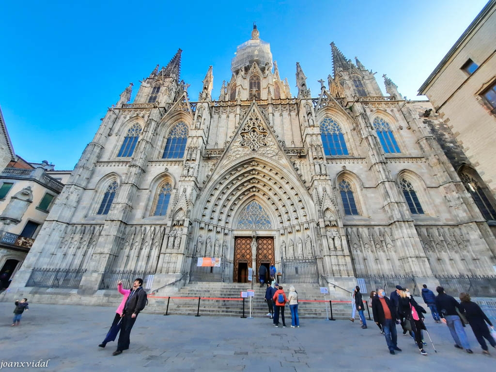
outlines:
M77 289L86 269L34 268L26 287Z

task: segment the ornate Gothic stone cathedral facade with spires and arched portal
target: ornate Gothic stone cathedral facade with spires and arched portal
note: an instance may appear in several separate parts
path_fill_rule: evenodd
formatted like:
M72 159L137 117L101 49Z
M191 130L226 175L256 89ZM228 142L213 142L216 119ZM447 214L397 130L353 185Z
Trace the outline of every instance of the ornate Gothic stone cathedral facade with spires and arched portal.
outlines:
M495 236L432 133L441 119L386 76L384 96L358 59L331 52L333 73L313 95L297 63L291 96L256 26L218 100L211 66L190 99L181 50L127 103L131 84L12 291L92 296L125 275L150 290L247 282L249 268L275 263L283 283L495 294ZM197 266L202 257L220 259Z

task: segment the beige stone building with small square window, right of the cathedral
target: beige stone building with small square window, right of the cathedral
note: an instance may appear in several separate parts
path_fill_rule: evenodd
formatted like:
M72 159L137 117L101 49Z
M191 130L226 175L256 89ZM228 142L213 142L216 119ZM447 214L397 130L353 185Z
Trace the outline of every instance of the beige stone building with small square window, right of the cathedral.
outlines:
M495 35L496 0L491 0L419 92L443 119L444 125L432 128L434 135L496 233Z

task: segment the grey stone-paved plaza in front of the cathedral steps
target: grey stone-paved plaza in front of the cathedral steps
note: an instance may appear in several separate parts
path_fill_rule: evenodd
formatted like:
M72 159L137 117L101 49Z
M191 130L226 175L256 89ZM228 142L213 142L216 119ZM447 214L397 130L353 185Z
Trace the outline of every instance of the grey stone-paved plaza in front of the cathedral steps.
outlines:
M13 304L0 303L0 360L50 360L48 368L40 368L47 371L492 371L496 363L496 350L490 348L490 357L482 355L469 327L472 355L455 349L447 327L434 324L431 317L426 324L437 354L429 344L425 357L401 332L398 346L403 352L390 355L373 322L361 329L358 320L301 319L300 328L291 328L288 316L287 328L275 328L260 315L242 319L142 313L131 332L130 349L114 357L115 342L105 349L97 346L114 308L33 303L21 325L11 327L13 310ZM9 370L14 368L1 369Z

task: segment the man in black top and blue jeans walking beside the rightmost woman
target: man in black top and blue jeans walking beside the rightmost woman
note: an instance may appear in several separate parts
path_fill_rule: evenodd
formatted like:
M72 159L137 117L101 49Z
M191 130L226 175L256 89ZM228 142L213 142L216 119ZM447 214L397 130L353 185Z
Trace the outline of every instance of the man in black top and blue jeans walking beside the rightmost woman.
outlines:
M467 334L463 329L460 316L456 312L456 309L463 312L463 308L453 297L444 293L444 288L439 286L436 288L436 292L438 295L435 298L435 305L437 309L439 309L441 321L449 328L451 337L453 337L453 341L455 341L455 348L465 349L467 353L472 354L473 351L470 349Z

